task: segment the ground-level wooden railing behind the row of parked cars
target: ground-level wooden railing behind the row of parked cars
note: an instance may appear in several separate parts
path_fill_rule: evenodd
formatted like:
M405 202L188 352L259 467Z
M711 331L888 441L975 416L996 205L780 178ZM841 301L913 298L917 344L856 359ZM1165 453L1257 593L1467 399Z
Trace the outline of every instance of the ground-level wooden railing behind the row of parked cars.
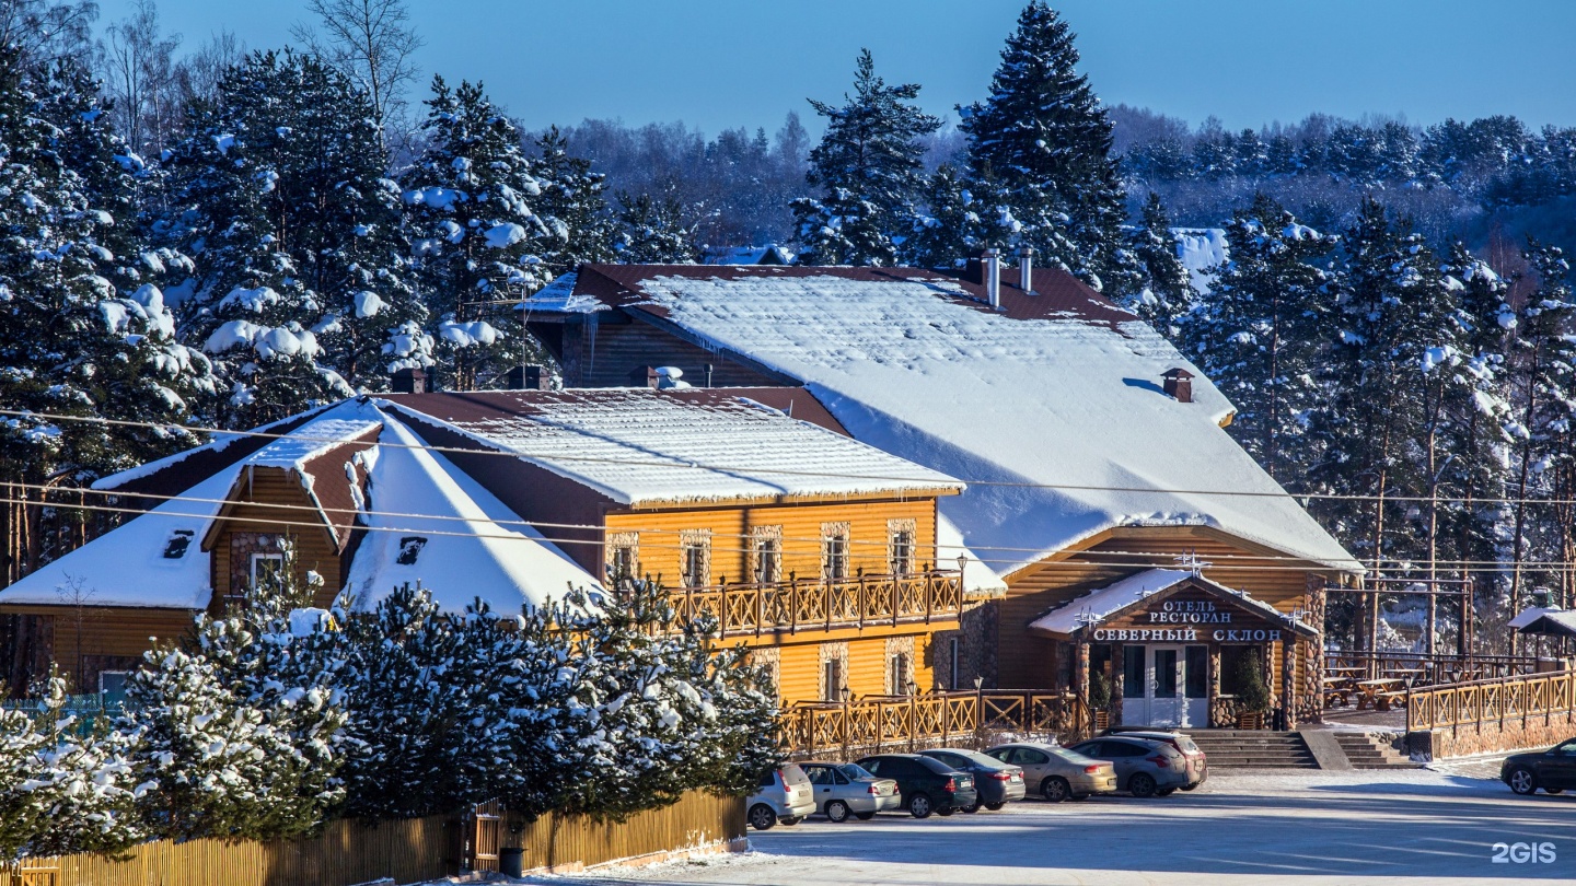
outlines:
M935 692L875 695L845 703L793 705L782 716L793 754L831 749L913 749L969 741L993 732L1054 733L1064 741L1089 735L1089 708L1059 692Z

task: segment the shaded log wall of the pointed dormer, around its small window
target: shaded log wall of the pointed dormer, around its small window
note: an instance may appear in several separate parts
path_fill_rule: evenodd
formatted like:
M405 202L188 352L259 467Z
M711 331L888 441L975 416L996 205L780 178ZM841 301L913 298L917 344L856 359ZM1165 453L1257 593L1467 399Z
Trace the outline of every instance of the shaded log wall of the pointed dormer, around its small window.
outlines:
M214 601L222 601L233 591L230 580L230 539L236 533L268 533L273 536L288 534L296 550L296 580L306 583L306 572L317 571L323 577L323 586L317 593L315 605L328 607L334 602L344 586L340 557L334 550L334 539L323 527L322 517L312 508L312 500L301 489L299 481L284 468L255 468L251 482L243 479L235 490L236 504L227 512L227 520L219 527L214 544L208 549L210 575L213 580ZM288 508L258 506L287 504ZM285 525L281 525L285 523Z

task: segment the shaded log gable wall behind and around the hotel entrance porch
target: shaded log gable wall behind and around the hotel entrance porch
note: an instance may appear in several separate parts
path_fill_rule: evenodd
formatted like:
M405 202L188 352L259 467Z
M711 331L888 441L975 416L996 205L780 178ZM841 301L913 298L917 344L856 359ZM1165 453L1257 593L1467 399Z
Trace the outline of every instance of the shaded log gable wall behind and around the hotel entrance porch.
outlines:
M1007 577L1007 596L998 620L998 686L1002 689L1048 689L1054 686L1054 643L1029 632L1029 623L1048 610L1097 588L1116 583L1143 569L1176 569L1176 557L1195 553L1215 566L1204 575L1245 590L1254 599L1281 612L1308 602L1308 580L1324 574L1297 563L1270 560L1266 549L1207 527L1133 527L1116 530L1087 549L1064 560L1042 561ZM1147 557L1125 557L1143 553ZM1266 560L1240 560L1267 557ZM1232 560L1239 558L1239 560ZM1307 564L1303 564L1307 566Z

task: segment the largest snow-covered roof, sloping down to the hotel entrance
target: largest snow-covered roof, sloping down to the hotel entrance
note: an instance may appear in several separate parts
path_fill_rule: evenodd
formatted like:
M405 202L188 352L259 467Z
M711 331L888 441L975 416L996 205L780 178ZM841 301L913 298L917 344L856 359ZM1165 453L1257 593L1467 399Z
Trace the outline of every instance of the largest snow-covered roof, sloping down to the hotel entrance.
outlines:
M1234 407L1059 271L1035 295L911 268L582 266L577 293L805 385L860 441L969 482L942 501L1007 575L1116 527L1201 525L1360 566L1221 429ZM1193 400L1162 374L1196 375Z

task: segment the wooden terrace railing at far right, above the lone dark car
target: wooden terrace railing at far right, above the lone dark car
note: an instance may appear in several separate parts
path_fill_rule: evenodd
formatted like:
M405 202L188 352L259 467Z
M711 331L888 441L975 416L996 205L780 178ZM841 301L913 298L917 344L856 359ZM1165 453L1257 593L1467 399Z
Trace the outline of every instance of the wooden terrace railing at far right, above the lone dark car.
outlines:
M1414 689L1406 705L1406 728L1459 728L1485 724L1519 724L1529 717L1576 711L1576 672L1562 670L1532 676L1474 679L1451 686Z

